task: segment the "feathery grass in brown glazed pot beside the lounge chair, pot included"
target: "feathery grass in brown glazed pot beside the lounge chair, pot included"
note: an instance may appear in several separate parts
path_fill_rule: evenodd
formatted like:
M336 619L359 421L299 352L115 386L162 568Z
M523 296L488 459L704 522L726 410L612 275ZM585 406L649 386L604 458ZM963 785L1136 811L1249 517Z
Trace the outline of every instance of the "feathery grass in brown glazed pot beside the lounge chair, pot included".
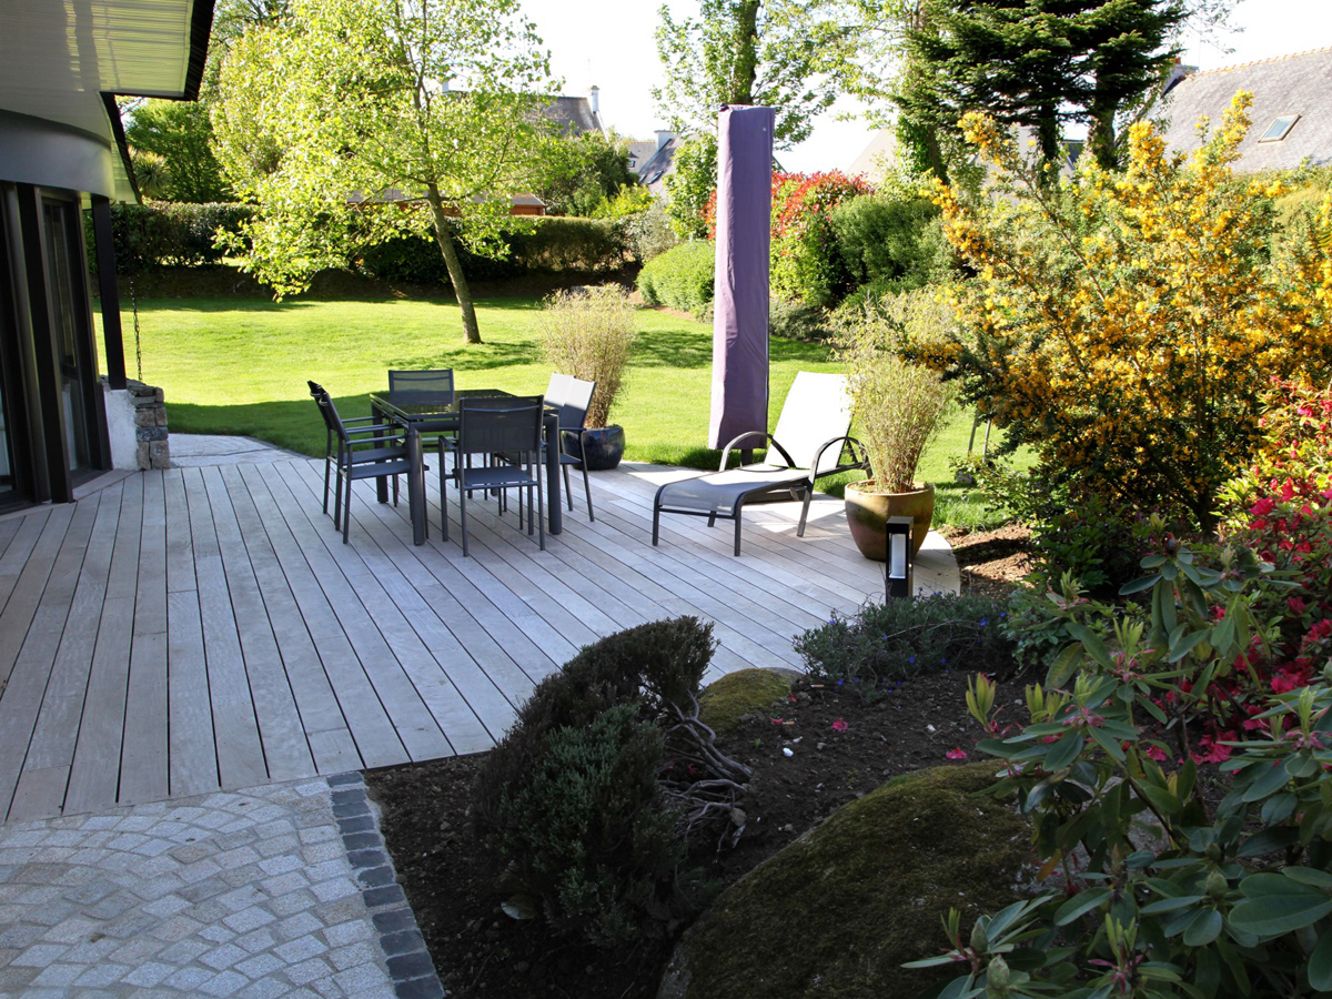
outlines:
M871 305L836 333L839 358L856 421L856 437L870 460L868 480L846 486L851 537L866 558L887 555L888 517L911 517L915 551L934 518L934 486L916 481L920 454L944 425L954 389L904 360L907 346L934 340L954 322L935 292L920 289Z

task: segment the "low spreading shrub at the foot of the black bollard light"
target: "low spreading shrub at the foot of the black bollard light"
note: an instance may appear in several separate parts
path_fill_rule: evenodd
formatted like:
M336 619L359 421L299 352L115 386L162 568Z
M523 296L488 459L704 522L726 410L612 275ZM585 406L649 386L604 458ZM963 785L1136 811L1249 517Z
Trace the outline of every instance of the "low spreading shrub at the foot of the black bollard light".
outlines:
M1014 643L1002 629L1004 601L932 594L868 603L795 639L811 675L868 685L943 670L1004 671Z

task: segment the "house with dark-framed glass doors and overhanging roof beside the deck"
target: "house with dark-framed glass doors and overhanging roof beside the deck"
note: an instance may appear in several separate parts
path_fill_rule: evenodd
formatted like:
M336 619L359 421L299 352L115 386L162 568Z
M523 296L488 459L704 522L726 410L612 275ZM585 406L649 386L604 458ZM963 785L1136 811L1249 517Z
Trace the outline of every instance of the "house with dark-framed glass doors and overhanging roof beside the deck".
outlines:
M160 393L125 377L111 202L139 194L115 99L197 97L212 20L213 0L0 5L0 506L165 461Z

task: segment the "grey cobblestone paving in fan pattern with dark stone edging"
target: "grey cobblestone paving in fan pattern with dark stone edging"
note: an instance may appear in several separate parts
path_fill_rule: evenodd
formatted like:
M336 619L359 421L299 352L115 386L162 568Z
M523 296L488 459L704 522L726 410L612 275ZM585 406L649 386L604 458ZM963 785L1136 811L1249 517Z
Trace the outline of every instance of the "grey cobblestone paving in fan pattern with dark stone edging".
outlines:
M360 777L332 783L0 826L0 996L440 995L406 967L425 955L386 856L348 856Z

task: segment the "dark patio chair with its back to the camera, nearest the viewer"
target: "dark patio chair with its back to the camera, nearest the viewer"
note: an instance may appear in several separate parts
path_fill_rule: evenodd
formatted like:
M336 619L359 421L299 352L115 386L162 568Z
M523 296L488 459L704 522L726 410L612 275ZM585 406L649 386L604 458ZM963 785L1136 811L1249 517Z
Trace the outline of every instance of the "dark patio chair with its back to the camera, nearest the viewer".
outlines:
M546 549L546 500L542 481L541 421L545 416L541 396L464 398L458 405L458 437L453 448L440 444L440 515L444 539L449 539L448 482L458 490L462 522L462 554L468 554L468 496L481 492L518 492L518 527L523 522L522 490L527 490L527 534L533 521ZM446 472L446 449L453 454L453 470ZM502 454L505 461L469 468L472 456L482 460ZM535 502L533 492L535 490Z

